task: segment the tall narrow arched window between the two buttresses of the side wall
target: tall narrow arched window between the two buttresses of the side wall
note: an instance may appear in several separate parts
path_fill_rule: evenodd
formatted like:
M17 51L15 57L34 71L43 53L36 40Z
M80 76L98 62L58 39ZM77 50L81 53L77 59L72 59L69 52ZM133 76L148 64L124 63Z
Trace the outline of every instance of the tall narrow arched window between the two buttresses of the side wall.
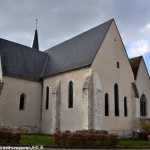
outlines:
M68 84L68 108L73 108L73 82Z

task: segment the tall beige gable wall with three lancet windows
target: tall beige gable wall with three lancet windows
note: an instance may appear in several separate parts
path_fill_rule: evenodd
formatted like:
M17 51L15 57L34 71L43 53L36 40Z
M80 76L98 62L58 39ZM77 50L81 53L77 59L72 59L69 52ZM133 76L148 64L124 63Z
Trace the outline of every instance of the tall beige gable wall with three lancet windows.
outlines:
M117 67L117 62L119 67ZM93 71L99 76L101 89L99 92L100 115L97 122L99 129L109 131L132 130L133 97L131 83L134 76L127 53L119 32L113 22L92 64ZM114 113L114 85L119 87L119 116ZM105 116L105 93L109 94L109 116ZM124 97L127 97L128 116L124 116ZM118 133L118 132L117 132Z

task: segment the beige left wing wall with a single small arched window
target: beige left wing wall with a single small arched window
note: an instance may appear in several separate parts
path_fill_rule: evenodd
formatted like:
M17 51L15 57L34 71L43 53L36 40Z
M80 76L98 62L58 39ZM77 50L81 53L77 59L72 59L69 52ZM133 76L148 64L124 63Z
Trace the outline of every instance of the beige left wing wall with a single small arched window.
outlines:
M0 126L39 132L42 84L3 76L0 95ZM19 110L20 95L26 95L25 109Z

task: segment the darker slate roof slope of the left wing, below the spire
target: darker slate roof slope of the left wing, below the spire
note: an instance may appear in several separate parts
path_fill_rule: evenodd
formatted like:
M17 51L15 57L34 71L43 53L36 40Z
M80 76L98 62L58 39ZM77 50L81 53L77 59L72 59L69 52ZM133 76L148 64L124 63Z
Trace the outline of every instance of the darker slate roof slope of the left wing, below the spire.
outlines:
M0 38L3 75L39 80L47 54Z

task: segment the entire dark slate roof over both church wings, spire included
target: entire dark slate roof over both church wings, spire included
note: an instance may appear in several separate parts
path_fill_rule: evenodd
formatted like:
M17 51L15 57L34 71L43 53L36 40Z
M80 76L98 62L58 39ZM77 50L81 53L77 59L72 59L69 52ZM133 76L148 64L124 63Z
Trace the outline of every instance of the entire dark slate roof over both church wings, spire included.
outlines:
M45 52L38 51L35 30L32 48L0 38L3 75L38 81L92 64L113 19Z

